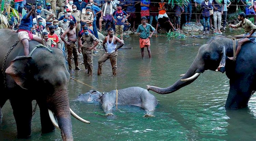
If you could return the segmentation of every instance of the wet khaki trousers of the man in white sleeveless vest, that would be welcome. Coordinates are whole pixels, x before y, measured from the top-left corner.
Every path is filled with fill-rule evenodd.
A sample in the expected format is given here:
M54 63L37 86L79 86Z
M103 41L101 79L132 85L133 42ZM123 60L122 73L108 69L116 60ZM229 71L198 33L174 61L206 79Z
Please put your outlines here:
M106 53L103 54L99 60L98 60L98 75L102 75L102 66L103 64L105 63L106 60L110 59L110 63L111 63L111 66L112 66L112 72L113 72L113 75L116 75L117 73L117 52L114 51L113 53Z

